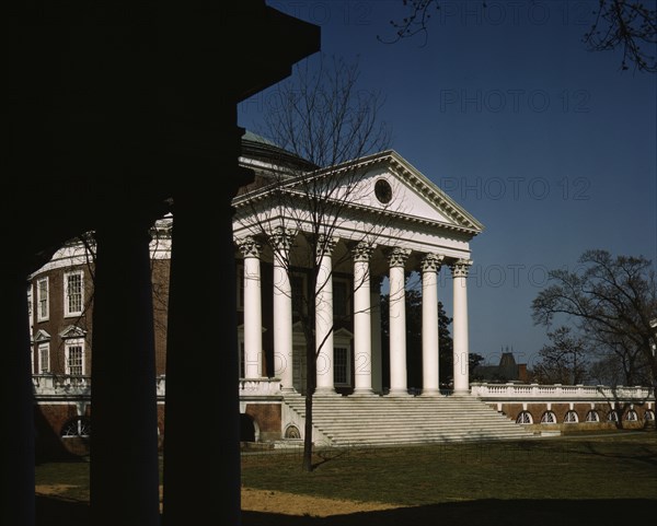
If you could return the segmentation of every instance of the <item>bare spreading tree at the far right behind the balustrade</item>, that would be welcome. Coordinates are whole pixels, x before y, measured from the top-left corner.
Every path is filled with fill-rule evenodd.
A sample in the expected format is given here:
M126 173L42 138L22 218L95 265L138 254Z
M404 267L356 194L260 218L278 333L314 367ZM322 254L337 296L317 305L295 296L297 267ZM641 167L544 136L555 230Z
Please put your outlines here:
M554 284L532 302L534 324L550 326L556 315L572 318L591 344L615 353L629 383L647 365L655 388L657 281L652 261L587 250L578 262L574 271L549 272Z

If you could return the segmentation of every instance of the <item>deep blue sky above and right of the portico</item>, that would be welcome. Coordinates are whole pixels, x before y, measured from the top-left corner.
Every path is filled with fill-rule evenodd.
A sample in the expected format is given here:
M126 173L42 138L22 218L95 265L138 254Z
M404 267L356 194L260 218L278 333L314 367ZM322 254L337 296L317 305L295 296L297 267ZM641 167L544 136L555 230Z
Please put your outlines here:
M654 4L655 2L653 2ZM401 0L267 1L322 28L385 97L391 148L485 231L471 244L470 350L530 364L546 342L531 302L587 248L657 261L657 75L581 43L597 1L442 2L429 34L396 44ZM654 9L654 8L653 8ZM266 92L239 107L257 126ZM451 279L440 273L451 312Z

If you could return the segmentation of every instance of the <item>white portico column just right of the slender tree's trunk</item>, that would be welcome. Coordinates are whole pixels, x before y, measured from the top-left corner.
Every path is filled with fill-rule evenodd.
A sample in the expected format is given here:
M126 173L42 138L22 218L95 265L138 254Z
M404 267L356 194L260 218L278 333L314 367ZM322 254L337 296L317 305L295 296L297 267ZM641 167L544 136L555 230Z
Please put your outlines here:
M315 283L316 395L335 393L333 385L333 266L331 253L336 237L318 243L319 270Z

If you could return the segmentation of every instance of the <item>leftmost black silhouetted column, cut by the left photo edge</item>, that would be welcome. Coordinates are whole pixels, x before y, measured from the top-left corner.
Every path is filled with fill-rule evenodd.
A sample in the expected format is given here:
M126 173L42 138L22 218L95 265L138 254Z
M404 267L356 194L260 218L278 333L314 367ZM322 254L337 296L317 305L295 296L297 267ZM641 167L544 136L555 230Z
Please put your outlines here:
M21 271L7 269L0 277L0 317L3 335L2 419L0 447L0 521L7 525L34 524L34 397L30 364L27 281Z

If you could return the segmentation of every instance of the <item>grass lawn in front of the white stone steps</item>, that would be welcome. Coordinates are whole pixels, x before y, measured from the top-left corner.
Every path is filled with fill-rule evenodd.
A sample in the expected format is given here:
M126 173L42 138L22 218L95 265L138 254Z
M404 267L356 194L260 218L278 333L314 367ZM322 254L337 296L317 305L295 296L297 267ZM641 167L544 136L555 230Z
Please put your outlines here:
M330 449L316 455L311 474L300 467L300 451L243 455L242 484L400 507L324 518L245 512L244 526L600 526L657 513L655 432ZM66 524L84 524L74 521L85 512L76 515L71 506L87 507L88 476L88 463L37 466L37 484L67 487L37 500L38 524L65 524L56 518L61 513L72 521Z

